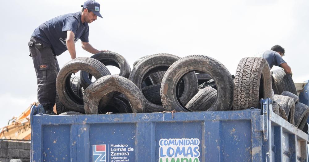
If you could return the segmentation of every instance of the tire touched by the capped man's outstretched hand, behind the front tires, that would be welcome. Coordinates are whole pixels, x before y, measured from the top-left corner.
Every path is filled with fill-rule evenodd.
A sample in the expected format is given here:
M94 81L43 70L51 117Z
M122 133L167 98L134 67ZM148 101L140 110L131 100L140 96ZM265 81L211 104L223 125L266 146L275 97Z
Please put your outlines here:
M99 60L105 66L111 65L120 69L119 76L128 78L131 72L130 65L127 60L123 56L115 52L99 52L95 55L92 55L91 58L95 60ZM109 71L108 71L109 72ZM110 75L110 73L108 74ZM86 89L91 83L92 75L87 73L86 71L81 71L81 85L84 89Z

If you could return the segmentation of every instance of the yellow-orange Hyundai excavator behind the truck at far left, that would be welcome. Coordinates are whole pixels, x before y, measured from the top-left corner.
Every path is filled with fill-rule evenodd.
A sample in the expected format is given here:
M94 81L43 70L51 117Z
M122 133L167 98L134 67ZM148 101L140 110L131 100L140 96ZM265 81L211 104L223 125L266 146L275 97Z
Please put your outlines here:
M9 120L7 126L0 129L0 139L31 140L30 108L38 104L39 102L33 102L19 117ZM56 106L54 112L56 113Z

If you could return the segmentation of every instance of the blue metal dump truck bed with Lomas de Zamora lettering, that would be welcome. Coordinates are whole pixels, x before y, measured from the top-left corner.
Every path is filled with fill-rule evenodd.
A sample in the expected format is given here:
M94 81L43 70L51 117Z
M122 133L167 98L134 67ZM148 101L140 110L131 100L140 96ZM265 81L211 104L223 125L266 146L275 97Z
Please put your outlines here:
M272 112L48 116L32 107L33 162L308 161L308 135Z

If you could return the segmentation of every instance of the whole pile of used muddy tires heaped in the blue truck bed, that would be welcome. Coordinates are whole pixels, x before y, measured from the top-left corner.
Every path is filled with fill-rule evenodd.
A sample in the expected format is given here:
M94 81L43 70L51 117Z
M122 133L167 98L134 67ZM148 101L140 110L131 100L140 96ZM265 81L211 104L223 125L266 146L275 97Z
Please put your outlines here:
M108 65L120 73L111 75ZM71 77L77 70L80 77ZM123 56L100 52L65 64L56 89L57 114L244 110L260 108L261 98L272 98L273 111L299 128L309 114L308 106L298 103L292 77L282 69L271 72L260 57L243 58L234 77L204 55L148 55L131 70Z

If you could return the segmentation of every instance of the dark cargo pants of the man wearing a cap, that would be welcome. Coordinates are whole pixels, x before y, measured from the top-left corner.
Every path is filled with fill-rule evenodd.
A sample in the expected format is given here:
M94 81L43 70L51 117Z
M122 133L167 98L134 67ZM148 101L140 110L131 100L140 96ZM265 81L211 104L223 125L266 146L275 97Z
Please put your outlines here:
M31 37L28 46L36 70L38 100L45 110L53 110L56 98L56 78L60 70L57 57L50 45L38 38Z

